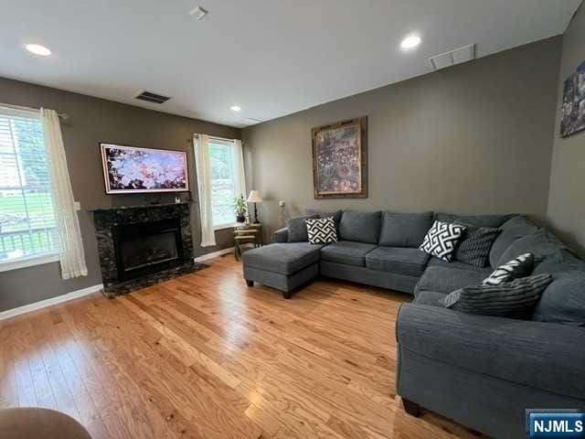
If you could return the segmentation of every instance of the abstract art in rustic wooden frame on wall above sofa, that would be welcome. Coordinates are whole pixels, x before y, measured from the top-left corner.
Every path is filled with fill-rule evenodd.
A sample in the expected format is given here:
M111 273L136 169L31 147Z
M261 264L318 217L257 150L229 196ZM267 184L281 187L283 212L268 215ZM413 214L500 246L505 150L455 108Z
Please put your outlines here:
M312 134L314 198L367 198L367 117Z

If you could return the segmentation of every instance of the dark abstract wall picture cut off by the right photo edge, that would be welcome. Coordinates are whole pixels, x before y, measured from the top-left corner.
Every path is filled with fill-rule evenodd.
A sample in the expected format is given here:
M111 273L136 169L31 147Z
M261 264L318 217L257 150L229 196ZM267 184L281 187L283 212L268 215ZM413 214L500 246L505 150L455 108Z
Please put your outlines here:
M563 91L560 135L567 137L585 130L585 61L567 80Z

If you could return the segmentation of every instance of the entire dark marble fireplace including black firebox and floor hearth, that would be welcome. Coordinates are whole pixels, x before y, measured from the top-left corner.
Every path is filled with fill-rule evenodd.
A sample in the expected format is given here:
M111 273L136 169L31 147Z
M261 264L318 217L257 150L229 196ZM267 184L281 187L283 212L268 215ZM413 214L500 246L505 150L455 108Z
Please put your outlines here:
M94 209L104 294L113 297L192 273L188 203Z

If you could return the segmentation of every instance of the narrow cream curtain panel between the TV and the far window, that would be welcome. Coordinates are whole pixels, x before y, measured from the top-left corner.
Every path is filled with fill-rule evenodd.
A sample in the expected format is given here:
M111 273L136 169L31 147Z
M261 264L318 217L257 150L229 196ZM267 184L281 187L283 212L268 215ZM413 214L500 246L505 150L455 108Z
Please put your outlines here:
M199 195L199 217L201 219L201 247L216 245L211 210L211 168L209 163L209 136L195 134L195 166L197 169L197 192Z

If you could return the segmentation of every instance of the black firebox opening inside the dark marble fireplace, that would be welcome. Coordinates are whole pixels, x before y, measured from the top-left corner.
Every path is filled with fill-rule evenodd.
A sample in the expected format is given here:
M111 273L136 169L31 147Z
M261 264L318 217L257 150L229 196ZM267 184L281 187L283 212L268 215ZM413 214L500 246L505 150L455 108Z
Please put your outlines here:
M163 219L113 228L118 279L127 281L184 262L179 219Z

